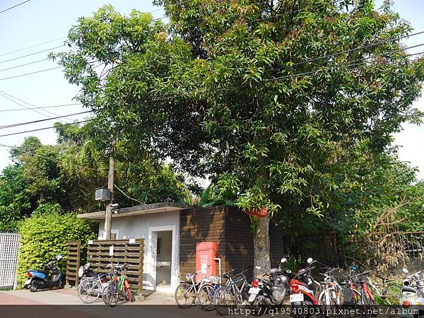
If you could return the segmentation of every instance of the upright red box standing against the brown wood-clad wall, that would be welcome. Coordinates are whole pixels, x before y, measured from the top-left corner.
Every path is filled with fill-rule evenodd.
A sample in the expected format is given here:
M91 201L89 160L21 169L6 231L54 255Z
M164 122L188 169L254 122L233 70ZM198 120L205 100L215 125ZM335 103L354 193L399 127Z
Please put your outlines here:
M196 281L206 273L206 277L216 276L216 242L201 242L196 244L196 271L202 271L196 275Z

